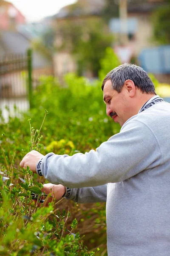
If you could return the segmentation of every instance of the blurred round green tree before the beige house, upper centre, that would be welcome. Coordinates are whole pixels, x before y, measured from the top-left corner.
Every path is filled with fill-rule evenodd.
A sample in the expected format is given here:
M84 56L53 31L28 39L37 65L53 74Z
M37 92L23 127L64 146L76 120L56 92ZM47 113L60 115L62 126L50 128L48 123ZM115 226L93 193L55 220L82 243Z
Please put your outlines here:
M60 25L59 35L62 44L58 50L70 51L77 61L78 73L89 71L97 76L100 68L99 60L104 57L105 49L111 46L113 36L102 20L65 21Z

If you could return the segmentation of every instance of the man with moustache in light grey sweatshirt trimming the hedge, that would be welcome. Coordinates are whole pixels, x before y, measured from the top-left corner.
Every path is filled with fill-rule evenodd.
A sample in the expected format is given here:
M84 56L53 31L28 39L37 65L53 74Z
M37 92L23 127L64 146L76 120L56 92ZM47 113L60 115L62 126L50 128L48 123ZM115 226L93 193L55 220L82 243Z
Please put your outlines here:
M57 199L106 201L108 256L169 256L170 105L133 64L108 73L102 90L119 134L85 154L31 151L20 166L60 184L44 187Z

